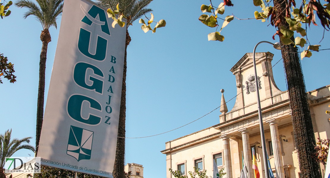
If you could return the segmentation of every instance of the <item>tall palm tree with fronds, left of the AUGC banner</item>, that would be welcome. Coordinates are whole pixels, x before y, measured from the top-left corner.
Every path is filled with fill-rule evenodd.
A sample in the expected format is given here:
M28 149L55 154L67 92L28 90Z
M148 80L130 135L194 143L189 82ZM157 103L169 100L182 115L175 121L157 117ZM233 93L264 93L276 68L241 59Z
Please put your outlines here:
M36 0L37 4L30 0L17 0L16 7L27 8L24 18L33 15L41 23L43 31L41 31L40 40L42 41L40 63L39 63L39 87L37 102L37 127L36 127L36 155L38 153L41 127L44 116L44 95L45 95L45 70L47 59L47 47L51 41L49 28L54 26L57 28L57 17L62 13L63 0Z

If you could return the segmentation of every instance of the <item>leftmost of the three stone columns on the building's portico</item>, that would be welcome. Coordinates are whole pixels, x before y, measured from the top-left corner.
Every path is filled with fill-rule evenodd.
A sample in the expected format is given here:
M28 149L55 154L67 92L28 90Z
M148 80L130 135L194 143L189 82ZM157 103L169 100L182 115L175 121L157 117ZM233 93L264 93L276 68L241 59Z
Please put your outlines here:
M225 177L233 178L232 167L231 167L231 155L230 155L230 139L231 135L222 135L220 138L223 140L223 160L225 167Z

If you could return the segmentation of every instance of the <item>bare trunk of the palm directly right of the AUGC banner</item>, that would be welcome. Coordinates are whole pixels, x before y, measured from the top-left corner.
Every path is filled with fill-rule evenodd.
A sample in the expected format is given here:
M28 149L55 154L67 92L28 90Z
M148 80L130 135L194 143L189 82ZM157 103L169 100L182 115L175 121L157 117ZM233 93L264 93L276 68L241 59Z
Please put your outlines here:
M125 56L124 56L124 70L123 81L121 88L121 101L119 111L119 123L118 123L118 137L116 147L116 159L113 170L114 178L125 178L124 161L125 161L125 120L126 120L126 59L127 59L127 46L131 41L128 30L126 29L126 43L125 43Z

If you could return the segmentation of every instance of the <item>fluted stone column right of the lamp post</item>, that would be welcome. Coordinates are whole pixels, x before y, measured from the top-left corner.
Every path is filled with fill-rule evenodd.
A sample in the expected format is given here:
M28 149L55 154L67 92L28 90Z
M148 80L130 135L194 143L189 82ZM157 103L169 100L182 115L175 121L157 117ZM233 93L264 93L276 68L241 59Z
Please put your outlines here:
M278 129L278 124L280 120L272 119L267 122L269 123L270 134L272 137L274 162L275 162L275 168L277 170L276 177L284 178L283 158L282 158L281 143L280 143L281 140L279 137L279 129Z

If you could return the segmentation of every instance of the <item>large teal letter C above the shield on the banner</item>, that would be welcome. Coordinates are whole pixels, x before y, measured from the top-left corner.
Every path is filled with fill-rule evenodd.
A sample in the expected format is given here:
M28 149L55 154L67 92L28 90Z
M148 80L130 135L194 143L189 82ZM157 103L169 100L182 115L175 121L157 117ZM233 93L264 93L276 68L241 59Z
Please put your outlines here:
M78 122L88 124L88 125L97 125L101 122L101 117L89 114L87 119L82 118L81 110L85 110L86 108L82 108L82 102L87 101L90 104L89 108L102 111L101 105L94 100L93 98L75 94L70 96L68 101L68 114L70 117Z

